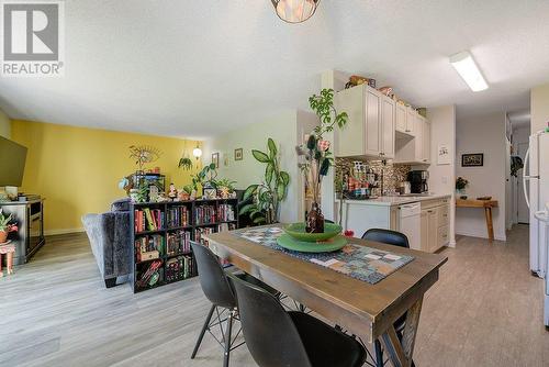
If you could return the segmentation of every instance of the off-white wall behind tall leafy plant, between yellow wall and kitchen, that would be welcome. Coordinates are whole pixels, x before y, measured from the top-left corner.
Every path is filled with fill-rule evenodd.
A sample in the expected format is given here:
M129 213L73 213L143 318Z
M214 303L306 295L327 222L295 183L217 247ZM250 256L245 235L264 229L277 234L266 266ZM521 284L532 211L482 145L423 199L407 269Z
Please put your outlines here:
M204 164L211 162L212 153L220 153L219 178L237 181L238 189L258 184L265 176L265 164L257 162L251 149L267 151L267 138L271 137L279 146L280 168L290 175L288 197L281 204L281 222L296 222L301 219L300 203L302 189L295 145L298 144L298 111L289 110L271 119L239 127L204 142ZM235 160L234 151L243 148L244 159ZM225 166L225 158L228 165Z

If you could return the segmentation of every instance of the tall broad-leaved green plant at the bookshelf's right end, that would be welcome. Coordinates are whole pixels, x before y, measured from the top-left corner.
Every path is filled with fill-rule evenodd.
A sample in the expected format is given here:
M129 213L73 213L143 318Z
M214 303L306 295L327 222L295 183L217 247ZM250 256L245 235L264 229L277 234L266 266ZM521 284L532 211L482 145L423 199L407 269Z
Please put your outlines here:
M267 153L251 151L254 158L267 166L261 184L250 185L244 191L243 200L254 198L254 202L240 209L240 214L248 213L256 224L278 222L280 203L287 198L290 185L290 175L280 169L277 144L270 137L267 140Z

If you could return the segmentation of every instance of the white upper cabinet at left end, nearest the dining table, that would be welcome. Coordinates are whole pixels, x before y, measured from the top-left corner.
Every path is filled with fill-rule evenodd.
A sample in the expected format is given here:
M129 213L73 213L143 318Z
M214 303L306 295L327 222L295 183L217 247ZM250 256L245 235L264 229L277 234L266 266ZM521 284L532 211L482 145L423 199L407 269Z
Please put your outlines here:
M347 112L347 125L336 133L336 156L394 157L395 103L368 86L341 90L336 96L338 112Z

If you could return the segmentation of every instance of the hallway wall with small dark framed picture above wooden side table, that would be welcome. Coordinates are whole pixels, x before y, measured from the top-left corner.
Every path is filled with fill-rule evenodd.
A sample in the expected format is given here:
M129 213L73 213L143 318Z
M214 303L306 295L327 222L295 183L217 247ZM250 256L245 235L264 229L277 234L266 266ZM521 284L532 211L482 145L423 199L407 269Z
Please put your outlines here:
M470 182L469 198L491 196L500 207L493 209L494 236L505 241L505 114L492 113L456 124L456 176ZM461 155L484 153L483 167L461 167ZM456 233L488 237L484 211L478 208L456 209Z

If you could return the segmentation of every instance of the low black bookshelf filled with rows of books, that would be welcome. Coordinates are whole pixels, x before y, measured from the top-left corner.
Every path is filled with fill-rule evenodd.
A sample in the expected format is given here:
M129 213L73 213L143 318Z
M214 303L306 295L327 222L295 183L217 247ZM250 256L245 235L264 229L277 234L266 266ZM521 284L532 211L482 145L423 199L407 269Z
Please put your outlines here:
M132 204L134 293L197 276L190 241L238 227L238 199Z

